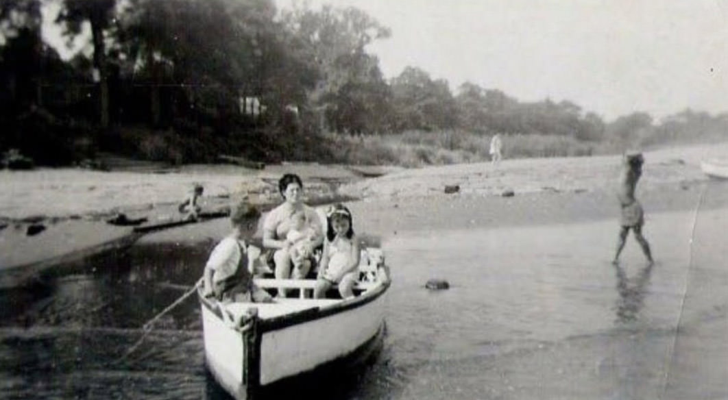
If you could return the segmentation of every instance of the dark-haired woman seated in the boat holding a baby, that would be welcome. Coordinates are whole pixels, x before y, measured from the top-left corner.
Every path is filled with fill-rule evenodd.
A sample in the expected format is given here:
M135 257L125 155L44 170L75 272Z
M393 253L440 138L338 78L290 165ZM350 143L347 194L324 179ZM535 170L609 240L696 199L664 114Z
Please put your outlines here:
M299 226L300 230L311 230L311 239L303 245L302 250L313 255L314 249L323 242L323 228L318 213L312 207L304 204L304 184L301 177L295 174L285 174L278 181L278 190L283 197L283 203L266 215L263 221L263 247L272 254L274 274L276 279L304 279L315 264L312 256L309 263L301 263L300 268L293 268L291 249L293 241L288 240L288 232L293 228L293 216L303 212L305 223ZM279 296L285 297L286 291L279 289Z

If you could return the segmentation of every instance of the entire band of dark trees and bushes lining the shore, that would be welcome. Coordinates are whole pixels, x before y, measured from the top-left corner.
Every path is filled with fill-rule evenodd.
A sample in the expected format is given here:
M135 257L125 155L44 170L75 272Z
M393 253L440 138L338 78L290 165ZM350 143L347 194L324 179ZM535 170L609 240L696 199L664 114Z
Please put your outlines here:
M44 21L53 4L60 14ZM49 23L68 39L90 31L90 55L61 59L41 38ZM416 67L387 80L367 46L390 34L359 9L278 12L272 0L2 0L0 151L39 164L110 151L177 163L224 153L417 165L487 159L496 132L510 156L728 132L728 114L606 122L569 101L523 103L471 83L453 93Z

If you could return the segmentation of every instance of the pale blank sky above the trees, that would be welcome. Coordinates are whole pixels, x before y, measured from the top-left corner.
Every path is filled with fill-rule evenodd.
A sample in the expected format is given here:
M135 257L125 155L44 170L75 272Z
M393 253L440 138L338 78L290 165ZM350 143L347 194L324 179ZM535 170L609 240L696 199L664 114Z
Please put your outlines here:
M276 0L279 8L295 0ZM728 111L728 0L311 0L392 29L368 50L519 101L569 100L604 119Z

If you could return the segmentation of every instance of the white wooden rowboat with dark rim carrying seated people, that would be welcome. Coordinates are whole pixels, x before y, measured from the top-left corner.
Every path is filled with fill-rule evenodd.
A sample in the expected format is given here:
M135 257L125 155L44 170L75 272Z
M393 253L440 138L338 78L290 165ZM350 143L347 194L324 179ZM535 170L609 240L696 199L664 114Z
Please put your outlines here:
M360 366L381 345L389 289L379 248L362 250L355 297L313 299L314 279L254 279L264 289L293 289L275 303L220 303L197 295L205 364L235 399L256 399L289 383ZM322 387L325 387L323 385Z

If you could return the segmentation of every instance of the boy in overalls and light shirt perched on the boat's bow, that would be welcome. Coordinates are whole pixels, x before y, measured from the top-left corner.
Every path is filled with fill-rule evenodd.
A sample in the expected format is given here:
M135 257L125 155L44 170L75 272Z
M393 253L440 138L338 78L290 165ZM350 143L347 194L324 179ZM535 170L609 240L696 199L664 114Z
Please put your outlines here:
M253 272L248 263L248 247L242 239L248 223L255 220L258 210L241 204L230 216L232 232L222 239L205 264L202 295L222 302L271 303L272 297L253 284Z

